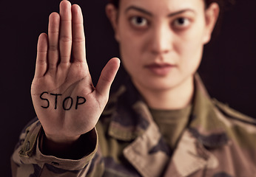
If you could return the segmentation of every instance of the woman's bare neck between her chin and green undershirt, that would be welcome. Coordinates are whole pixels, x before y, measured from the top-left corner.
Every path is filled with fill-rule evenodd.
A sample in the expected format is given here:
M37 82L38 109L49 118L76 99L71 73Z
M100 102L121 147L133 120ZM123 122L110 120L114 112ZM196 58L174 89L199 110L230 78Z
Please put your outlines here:
M171 89L151 90L136 86L150 108L176 110L185 108L192 101L194 78L189 77Z

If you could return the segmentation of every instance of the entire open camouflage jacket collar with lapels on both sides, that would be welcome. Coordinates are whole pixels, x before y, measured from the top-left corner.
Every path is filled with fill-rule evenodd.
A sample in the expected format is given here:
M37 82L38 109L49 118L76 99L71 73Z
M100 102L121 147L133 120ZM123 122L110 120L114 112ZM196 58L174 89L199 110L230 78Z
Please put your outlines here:
M115 111L109 134L122 141L133 140L124 149L124 156L141 175L189 176L203 167L218 165L218 160L207 149L226 145L228 136L198 74L195 74L194 105L189 125L174 152L166 147L149 109L131 83L112 99L115 101L110 100L110 103L115 103Z

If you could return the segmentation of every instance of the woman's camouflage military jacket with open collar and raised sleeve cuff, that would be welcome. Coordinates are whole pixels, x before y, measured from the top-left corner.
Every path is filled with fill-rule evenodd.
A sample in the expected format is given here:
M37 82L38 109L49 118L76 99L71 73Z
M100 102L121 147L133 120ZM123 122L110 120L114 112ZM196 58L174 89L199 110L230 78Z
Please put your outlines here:
M87 156L42 154L42 131L37 120L21 133L11 158L13 176L256 176L256 120L211 100L198 76L189 125L175 150L132 84L110 97L90 132L94 150Z

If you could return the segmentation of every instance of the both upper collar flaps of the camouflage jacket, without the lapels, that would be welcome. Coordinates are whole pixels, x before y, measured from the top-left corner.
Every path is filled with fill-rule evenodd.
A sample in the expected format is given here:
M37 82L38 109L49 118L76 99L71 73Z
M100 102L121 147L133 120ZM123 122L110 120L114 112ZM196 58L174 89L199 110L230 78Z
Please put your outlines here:
M140 136L152 122L146 103L130 80L113 97L115 112L110 122L109 133L116 139L131 141ZM111 102L111 100L110 100ZM219 111L210 100L203 82L195 74L195 95L189 131L206 147L226 145L228 136L219 119ZM134 117L134 119L131 119Z

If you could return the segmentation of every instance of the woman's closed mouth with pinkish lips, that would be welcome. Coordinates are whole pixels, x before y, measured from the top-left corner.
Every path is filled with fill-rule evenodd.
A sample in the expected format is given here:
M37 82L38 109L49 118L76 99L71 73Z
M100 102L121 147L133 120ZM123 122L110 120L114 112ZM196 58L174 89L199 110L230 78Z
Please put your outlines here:
M152 63L145 66L146 69L158 76L166 76L175 67L169 63Z

